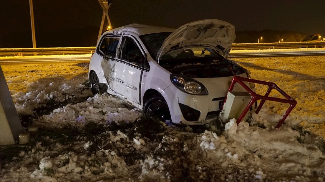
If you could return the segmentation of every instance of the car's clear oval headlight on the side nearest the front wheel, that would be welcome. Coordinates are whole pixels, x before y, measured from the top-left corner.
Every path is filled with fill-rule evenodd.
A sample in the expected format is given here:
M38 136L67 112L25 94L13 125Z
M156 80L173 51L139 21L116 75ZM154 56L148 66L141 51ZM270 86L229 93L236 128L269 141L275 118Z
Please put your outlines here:
M203 84L193 78L181 75L171 74L170 80L180 90L193 95L208 95L208 90Z

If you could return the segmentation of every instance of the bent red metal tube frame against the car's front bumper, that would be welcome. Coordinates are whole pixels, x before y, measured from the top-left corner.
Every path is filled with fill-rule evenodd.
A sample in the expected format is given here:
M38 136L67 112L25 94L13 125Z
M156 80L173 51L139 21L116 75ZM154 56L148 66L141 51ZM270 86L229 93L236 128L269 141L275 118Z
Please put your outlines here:
M266 94L264 96L261 96L259 94L256 94L243 81L253 82L253 83L256 83L256 84L268 85L268 89L266 91ZM282 125L283 121L288 117L289 113L292 111L292 109L297 104L297 101L295 101L287 93L285 93L283 90L281 90L278 87L278 85L276 85L275 83L265 82L265 81L260 81L260 80L254 80L254 79L244 78L244 77L240 77L240 76L234 76L232 78L231 85L230 85L229 90L228 90L229 92L231 92L233 90L235 83L239 83L252 96L251 101L249 102L249 104L247 105L247 107L244 109L244 111L241 113L240 117L237 119L237 125L244 118L244 116L249 111L249 109L253 106L253 104L254 104L254 102L256 102L256 100L261 100L260 105L257 107L257 109L255 111L256 114L258 114L260 112L260 110L261 110L261 108L262 108L262 106L263 106L263 104L265 103L266 100L290 104L290 107L287 109L286 113L284 114L284 116L282 117L282 119L280 119L280 121L278 122L278 124L277 124L277 126L275 128L280 128L280 126ZM272 89L277 90L286 99L269 97L268 95L271 93ZM227 99L227 97L226 97L226 99ZM225 99L225 102L224 103L226 103L226 99Z

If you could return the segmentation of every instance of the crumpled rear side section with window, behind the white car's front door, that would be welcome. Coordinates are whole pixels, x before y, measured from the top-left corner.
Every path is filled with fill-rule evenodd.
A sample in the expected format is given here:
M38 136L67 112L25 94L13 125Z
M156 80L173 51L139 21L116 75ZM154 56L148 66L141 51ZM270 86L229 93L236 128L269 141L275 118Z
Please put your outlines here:
M102 61L100 62L100 67L102 69L97 69L98 72L103 71L103 74L108 83L108 91L112 90L112 82L114 79L115 72L115 59L116 59L116 50L120 43L120 37L114 35L105 35L102 37L100 44L98 46L98 54L102 56ZM100 73L98 73L100 74Z

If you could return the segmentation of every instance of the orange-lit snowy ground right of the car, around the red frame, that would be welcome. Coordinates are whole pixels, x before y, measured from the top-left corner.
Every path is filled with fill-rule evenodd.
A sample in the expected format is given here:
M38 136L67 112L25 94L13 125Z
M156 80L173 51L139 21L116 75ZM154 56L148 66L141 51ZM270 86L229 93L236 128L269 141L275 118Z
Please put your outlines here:
M286 119L289 125L300 124L307 131L325 137L324 60L325 56L234 59L250 70L253 78L276 83L297 101L296 107ZM267 88L256 85L256 89L259 94L264 95ZM280 94L273 91L270 96L279 97ZM264 119L265 125L277 122L287 108L288 105L267 101L266 108L262 110L268 115ZM279 115L271 116L270 111ZM261 114L263 113L259 115Z

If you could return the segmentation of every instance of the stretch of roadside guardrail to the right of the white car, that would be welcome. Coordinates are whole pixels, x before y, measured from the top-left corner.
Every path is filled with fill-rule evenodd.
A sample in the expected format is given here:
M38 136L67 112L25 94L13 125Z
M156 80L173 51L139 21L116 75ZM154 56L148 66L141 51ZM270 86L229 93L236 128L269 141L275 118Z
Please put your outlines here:
M325 42L275 42L275 43L245 43L232 44L231 50L256 49L295 49L325 47Z

